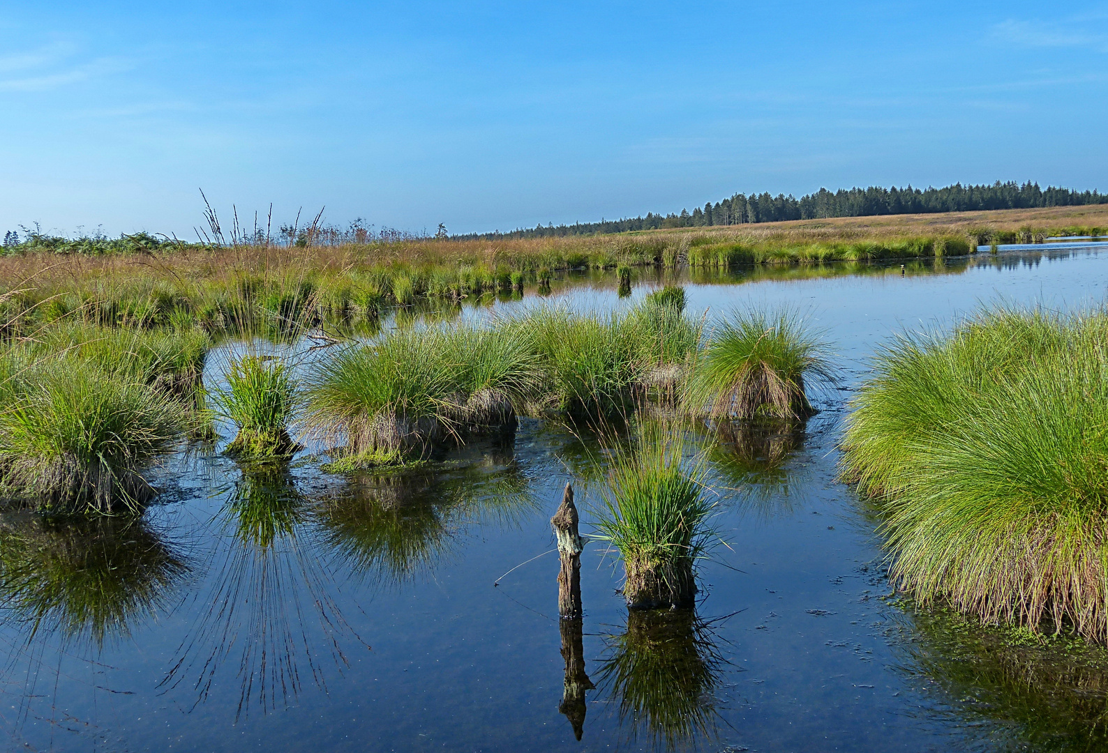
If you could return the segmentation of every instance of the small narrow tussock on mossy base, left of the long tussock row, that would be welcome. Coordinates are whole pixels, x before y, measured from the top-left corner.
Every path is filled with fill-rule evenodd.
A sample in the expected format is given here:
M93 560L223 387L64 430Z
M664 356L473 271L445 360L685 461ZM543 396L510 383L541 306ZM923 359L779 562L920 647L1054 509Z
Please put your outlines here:
M213 405L238 427L228 455L243 460L289 457L297 450L288 425L300 402L291 369L279 358L246 354L230 359L226 388L209 393Z

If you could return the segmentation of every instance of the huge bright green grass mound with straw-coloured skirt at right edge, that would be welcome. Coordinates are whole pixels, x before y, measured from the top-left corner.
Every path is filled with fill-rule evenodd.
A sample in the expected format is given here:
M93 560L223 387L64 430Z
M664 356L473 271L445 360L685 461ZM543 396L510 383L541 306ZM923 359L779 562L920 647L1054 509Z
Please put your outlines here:
M922 602L1108 639L1108 314L995 307L881 353L843 439Z

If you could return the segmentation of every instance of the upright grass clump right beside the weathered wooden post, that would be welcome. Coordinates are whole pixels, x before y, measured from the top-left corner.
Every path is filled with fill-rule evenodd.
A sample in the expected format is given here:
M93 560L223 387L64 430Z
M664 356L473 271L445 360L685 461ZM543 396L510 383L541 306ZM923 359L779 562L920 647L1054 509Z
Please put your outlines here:
M640 421L604 474L597 537L623 558L632 609L693 606L696 560L716 539L704 462L686 457L684 436L674 422Z

